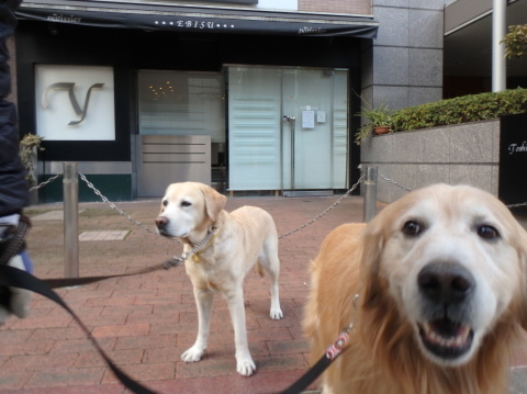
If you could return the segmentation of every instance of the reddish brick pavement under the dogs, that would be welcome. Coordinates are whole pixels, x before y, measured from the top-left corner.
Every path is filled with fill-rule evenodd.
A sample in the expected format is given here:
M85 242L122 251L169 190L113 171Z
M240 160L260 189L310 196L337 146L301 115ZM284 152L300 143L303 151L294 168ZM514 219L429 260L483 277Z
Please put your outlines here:
M267 210L279 234L305 224L329 207L333 198L236 198L226 210ZM154 228L159 200L116 203ZM382 204L379 205L382 207ZM29 250L38 278L64 275L61 204L26 210L33 218ZM181 254L175 241L150 234L104 203L81 203L80 275L133 272ZM58 212L56 212L58 211ZM183 363L180 354L197 334L192 288L182 268L109 279L57 293L91 330L110 358L132 378L159 393L279 393L309 367L301 319L309 292L309 263L324 237L346 222L362 221L362 199L348 196L322 218L280 240L280 297L285 317L269 318L269 281L251 271L245 283L247 329L257 372L236 373L228 311L216 296L204 359ZM527 365L518 351L515 364ZM514 372L511 393L526 393L525 370ZM525 383L525 384L524 384ZM0 328L0 393L125 393L77 323L58 305L33 295L31 315Z

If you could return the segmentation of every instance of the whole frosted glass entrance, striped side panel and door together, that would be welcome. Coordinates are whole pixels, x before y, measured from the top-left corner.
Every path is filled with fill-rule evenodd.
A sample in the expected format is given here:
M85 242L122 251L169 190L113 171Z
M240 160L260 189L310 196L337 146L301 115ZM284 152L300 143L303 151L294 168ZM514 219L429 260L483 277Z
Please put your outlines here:
M229 67L229 190L346 188L347 80L347 70Z

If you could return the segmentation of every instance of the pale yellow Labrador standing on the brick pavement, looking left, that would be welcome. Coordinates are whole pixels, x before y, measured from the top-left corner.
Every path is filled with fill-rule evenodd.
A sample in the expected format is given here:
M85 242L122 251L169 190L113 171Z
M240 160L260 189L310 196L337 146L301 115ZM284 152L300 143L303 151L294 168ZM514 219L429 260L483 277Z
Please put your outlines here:
M183 252L202 245L184 260L198 307L198 337L181 359L200 361L209 338L213 296L221 293L234 326L236 370L250 376L256 365L247 342L243 282L257 263L258 272L267 272L271 280L270 316L272 319L283 317L278 291L278 235L266 211L244 206L228 213L224 211L226 201L223 194L203 183L172 183L162 198L156 225L161 235L179 239ZM211 232L217 233L210 237Z

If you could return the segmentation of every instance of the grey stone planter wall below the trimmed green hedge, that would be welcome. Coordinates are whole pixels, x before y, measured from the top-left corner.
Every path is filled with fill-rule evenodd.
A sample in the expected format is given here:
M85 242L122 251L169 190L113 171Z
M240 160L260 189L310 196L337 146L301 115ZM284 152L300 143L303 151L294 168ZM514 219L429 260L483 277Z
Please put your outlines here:
M497 196L500 120L366 138L361 164L410 188L471 184ZM407 192L379 178L377 199L391 203Z

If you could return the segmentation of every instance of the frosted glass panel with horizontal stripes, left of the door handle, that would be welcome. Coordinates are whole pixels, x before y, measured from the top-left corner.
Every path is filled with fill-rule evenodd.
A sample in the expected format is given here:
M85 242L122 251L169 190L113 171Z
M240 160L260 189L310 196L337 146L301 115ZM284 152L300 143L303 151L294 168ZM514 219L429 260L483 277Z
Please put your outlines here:
M280 190L280 70L228 70L229 190Z

